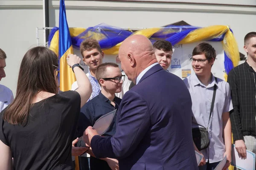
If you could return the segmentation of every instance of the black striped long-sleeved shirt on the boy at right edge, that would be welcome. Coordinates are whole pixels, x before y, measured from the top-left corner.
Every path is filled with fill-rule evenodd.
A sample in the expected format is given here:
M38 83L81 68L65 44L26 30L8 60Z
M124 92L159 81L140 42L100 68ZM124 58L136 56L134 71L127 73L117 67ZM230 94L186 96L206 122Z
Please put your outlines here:
M233 68L227 77L234 111L230 113L234 141L244 136L256 136L256 78L255 71L245 61Z

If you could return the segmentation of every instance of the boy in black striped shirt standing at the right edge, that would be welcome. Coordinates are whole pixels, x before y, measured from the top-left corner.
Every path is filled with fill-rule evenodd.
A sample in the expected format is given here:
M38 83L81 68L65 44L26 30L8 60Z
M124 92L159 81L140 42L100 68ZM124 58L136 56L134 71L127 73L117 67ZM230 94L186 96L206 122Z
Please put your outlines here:
M246 158L246 150L256 153L256 32L244 37L247 60L233 68L227 77L234 107L230 114L237 152Z

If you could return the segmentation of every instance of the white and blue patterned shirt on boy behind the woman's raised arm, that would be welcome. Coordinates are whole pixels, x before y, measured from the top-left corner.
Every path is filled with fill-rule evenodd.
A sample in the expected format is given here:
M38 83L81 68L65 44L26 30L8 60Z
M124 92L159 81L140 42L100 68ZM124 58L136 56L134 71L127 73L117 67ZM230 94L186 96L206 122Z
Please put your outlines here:
M97 81L97 79L95 77L92 76L92 74L90 73L90 69L88 71L88 73L86 74L86 76L88 77L92 88L93 88L93 92L90 96L90 98L88 99L88 101L90 101L90 99L92 99L93 97L97 96L99 94L99 92L101 91L99 82ZM77 82L74 82L71 86L71 90L75 91L78 88ZM88 102L87 101L87 102Z

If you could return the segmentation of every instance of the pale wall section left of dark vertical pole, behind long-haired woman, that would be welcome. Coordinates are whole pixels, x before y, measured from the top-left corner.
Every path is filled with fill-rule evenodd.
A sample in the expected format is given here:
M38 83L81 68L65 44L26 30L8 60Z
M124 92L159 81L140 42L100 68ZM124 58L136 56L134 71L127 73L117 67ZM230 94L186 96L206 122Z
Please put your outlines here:
M20 62L26 51L36 45L35 28L43 24L42 9L3 8L0 1L0 48L6 52L6 78L0 84L16 94ZM43 37L43 33L40 34ZM44 42L44 39L40 40Z

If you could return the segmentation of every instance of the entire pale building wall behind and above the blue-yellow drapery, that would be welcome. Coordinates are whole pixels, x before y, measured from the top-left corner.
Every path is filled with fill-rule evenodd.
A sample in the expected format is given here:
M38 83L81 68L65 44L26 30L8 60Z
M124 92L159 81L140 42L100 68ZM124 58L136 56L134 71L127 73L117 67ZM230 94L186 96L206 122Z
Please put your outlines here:
M255 0L151 0L101 2L65 0L70 27L106 23L118 27L160 27L184 20L192 26L229 25L243 54L245 34L256 31ZM163 3L168 1L168 3ZM207 4L211 3L211 4ZM215 3L215 4L213 4ZM219 4L218 4L219 3ZM224 3L225 5L221 5ZM235 5L234 5L235 4ZM36 45L35 28L44 26L42 0L0 0L0 48L7 54L7 77L0 82L15 93L20 60ZM50 0L50 27L58 26L58 0ZM44 42L40 31L40 42Z

